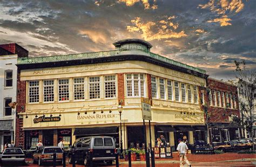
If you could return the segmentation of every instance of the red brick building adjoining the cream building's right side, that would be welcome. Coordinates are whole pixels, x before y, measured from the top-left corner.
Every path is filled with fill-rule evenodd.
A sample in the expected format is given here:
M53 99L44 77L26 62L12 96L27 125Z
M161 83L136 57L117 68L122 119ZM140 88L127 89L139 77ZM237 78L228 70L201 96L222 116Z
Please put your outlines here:
M237 86L207 78L207 87L201 90L201 99L208 113L210 143L218 145L240 137L233 116L240 117Z

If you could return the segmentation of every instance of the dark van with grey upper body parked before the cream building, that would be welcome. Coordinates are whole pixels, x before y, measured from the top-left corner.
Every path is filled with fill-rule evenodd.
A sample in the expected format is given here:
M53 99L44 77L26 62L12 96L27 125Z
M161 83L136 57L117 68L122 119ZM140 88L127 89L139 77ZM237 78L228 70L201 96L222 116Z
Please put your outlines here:
M113 137L93 136L78 138L70 149L69 163L106 162L111 165L115 159L116 145Z

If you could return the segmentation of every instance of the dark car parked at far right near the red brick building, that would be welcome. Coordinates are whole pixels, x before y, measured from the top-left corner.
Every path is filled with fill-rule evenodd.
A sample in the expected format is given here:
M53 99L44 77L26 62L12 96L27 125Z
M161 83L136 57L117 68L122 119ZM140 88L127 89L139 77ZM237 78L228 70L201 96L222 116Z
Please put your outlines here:
M250 140L247 140L246 138L241 138L229 141L223 145L217 145L214 147L214 150L223 150L223 152L226 152L246 150L250 148L252 148L252 142Z

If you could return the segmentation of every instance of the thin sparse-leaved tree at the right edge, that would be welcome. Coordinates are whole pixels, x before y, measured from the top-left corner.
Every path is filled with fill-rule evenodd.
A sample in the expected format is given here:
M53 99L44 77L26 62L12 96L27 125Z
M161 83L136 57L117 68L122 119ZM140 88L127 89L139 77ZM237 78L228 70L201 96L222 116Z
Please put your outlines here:
M250 136L252 136L252 144L254 151L254 93L256 88L256 71L255 69L248 69L245 61L234 61L235 77L237 78L238 87L245 90L245 98L239 99L241 119L234 117L234 122L241 123L242 129L246 129ZM244 131L244 130L243 130ZM243 132L244 133L244 132Z

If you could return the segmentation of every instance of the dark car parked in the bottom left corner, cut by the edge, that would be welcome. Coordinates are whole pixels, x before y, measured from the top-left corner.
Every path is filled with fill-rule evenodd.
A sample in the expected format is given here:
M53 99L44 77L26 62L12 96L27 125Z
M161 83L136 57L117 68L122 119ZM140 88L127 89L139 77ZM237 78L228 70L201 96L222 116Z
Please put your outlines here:
M6 148L2 153L2 164L25 164L25 154L21 148Z

